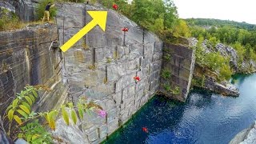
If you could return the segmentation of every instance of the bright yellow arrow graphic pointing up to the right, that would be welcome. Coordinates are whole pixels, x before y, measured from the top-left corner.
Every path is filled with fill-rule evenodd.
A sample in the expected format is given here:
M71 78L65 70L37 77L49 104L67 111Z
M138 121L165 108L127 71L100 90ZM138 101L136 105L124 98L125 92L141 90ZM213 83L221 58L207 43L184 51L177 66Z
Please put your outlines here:
M92 21L90 21L86 26L82 28L77 34L74 34L72 38L70 38L69 41L67 41L63 46L61 46L61 50L65 52L66 50L69 50L71 46L73 46L76 42L78 42L79 39L81 39L84 35L86 35L90 30L94 28L94 26L100 26L103 31L106 30L106 17L107 17L107 11L87 11L91 18L93 18Z

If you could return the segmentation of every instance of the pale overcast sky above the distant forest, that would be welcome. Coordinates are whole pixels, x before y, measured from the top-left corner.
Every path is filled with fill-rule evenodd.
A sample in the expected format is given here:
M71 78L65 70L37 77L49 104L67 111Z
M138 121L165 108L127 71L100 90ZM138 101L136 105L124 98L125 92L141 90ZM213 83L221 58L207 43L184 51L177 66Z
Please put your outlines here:
M256 0L173 0L179 18L216 18L256 24Z

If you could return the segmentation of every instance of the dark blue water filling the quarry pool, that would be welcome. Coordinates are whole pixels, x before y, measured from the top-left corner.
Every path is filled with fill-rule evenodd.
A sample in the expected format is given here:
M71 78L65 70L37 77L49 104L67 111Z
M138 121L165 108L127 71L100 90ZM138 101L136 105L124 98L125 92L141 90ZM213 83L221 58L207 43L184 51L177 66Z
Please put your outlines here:
M155 96L103 143L228 143L256 119L256 74L234 79L238 98L202 90L185 103Z

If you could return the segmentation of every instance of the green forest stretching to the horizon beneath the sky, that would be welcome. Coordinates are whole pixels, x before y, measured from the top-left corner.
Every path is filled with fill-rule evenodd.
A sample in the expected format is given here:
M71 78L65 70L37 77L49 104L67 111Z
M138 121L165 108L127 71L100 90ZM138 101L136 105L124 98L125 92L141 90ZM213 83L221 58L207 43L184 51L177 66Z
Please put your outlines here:
M201 22L201 19L192 23L188 22L192 37L201 41L208 39L212 46L216 46L219 42L232 46L237 50L240 64L250 59L256 61L256 30L238 28L245 26L244 22L234 22L236 26L230 25L232 22L225 24L226 21L223 20L214 21L213 25L210 25L212 19L209 19L207 26L202 25L206 19L201 24L196 25L197 22Z

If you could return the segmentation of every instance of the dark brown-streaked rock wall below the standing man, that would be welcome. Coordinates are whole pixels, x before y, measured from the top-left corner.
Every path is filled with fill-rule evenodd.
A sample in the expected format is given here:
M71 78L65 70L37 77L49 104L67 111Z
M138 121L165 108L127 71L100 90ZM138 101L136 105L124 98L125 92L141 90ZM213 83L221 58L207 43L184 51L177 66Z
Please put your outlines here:
M41 84L52 89L38 99L37 106L41 110L54 107L58 99L66 95L65 86L60 82L58 50L49 50L57 39L56 26L32 26L0 33L1 114L27 84Z

